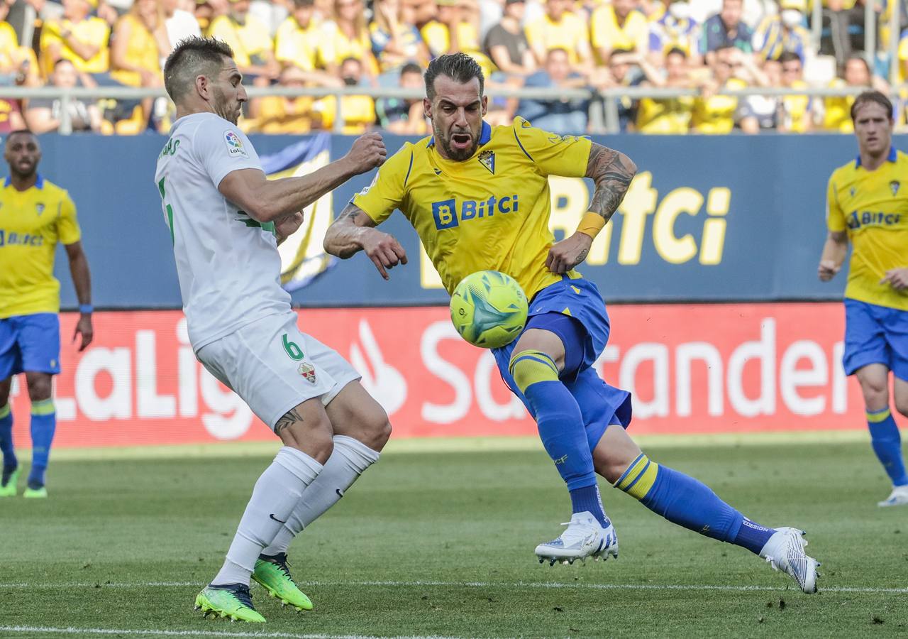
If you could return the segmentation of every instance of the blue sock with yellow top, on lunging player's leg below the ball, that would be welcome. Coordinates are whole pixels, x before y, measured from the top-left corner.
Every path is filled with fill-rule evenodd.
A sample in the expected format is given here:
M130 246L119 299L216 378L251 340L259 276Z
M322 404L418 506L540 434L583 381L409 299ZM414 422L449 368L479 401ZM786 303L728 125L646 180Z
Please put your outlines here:
M599 524L607 525L583 415L577 400L558 380L558 366L548 354L526 350L511 357L508 370L527 398L542 445L568 484L573 512L588 511Z

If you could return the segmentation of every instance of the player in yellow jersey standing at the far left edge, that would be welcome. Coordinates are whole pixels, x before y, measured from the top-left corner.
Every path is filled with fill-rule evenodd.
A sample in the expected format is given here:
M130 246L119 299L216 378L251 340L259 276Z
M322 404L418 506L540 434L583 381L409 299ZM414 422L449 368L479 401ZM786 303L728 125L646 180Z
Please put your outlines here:
M66 248L78 324L79 350L91 344L92 287L82 250L75 205L64 189L38 174L41 147L29 131L6 138L9 175L0 188L0 497L16 494L18 461L13 448L9 391L13 375L25 373L32 401L32 470L25 497L46 497L44 471L56 428L52 378L60 372L60 283L54 278L54 249Z

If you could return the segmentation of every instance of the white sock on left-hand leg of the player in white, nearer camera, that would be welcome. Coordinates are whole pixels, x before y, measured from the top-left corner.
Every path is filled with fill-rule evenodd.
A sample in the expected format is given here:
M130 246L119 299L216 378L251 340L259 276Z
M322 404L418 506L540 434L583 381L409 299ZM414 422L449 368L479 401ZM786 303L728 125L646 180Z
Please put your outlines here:
M322 465L308 454L283 446L252 489L252 497L212 584L249 584L255 560L271 544L300 502L303 489L315 481Z

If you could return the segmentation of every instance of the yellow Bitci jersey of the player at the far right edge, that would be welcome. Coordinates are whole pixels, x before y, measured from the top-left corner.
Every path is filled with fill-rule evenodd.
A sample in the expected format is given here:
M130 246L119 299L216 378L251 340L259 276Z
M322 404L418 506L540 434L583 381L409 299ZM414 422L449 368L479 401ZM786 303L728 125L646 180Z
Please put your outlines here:
M908 266L908 155L893 148L875 171L860 157L835 169L826 225L854 245L845 297L908 311L908 295L880 284L886 271Z

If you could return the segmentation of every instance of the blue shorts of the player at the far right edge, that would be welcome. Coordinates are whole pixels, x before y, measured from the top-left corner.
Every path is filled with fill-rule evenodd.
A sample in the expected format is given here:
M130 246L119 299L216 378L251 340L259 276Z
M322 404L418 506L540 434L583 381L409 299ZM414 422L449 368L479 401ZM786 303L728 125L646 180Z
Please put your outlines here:
M867 364L908 380L908 311L845 298L845 374Z

